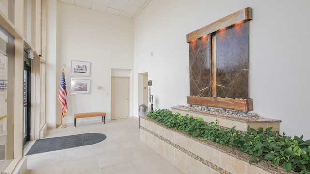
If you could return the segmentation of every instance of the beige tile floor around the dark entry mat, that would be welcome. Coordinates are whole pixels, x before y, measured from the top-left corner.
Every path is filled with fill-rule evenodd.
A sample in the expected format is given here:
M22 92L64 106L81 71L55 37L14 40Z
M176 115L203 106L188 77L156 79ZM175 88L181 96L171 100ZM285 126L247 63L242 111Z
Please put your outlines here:
M136 119L50 129L46 138L81 133L103 133L107 138L94 145L28 155L28 174L184 174L140 141Z

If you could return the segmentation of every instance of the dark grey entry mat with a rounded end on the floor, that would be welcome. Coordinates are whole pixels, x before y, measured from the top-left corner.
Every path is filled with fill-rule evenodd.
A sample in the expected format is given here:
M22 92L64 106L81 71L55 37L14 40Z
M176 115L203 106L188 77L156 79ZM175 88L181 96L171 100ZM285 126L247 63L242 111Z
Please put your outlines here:
M34 142L26 155L62 150L84 145L93 145L105 140L106 138L107 136L102 133L84 133L78 135L39 139Z

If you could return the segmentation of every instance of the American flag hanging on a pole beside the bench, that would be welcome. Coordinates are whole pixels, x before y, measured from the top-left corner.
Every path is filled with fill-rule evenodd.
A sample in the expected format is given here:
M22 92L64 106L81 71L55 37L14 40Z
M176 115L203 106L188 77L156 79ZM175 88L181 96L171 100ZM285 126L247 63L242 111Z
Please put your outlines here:
M62 69L62 81L60 82L58 101L62 105L62 117L67 116L68 104L67 104L67 86L64 78L64 69Z

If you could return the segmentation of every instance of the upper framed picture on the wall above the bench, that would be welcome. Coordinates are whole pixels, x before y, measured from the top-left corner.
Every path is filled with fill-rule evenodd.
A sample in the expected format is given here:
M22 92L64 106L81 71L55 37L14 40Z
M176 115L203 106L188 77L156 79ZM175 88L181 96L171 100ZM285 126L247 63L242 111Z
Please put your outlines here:
M71 60L72 76L90 76L91 62Z

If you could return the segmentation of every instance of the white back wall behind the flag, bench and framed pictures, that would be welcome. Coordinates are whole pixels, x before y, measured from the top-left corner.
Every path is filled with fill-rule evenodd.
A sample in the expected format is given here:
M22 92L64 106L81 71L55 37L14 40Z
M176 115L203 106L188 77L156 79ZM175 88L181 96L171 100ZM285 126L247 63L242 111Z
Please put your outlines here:
M55 126L55 119L56 124L60 123L61 105L57 95L63 64L66 65L68 115L62 123L72 124L74 113L96 111L106 112L106 119L109 120L111 69L133 69L133 20L62 2L57 2L57 8L53 10L57 11L57 58L52 60L56 67L47 64L47 70L54 70L54 74L47 74L47 81L56 81L57 94L47 90L47 101L55 101L56 98L56 107L47 103L47 108L56 113L57 118L47 111L48 126ZM91 62L90 76L71 76L71 60ZM90 94L70 94L71 78L90 79ZM103 89L97 89L97 86ZM77 122L93 120L101 118L82 118Z

